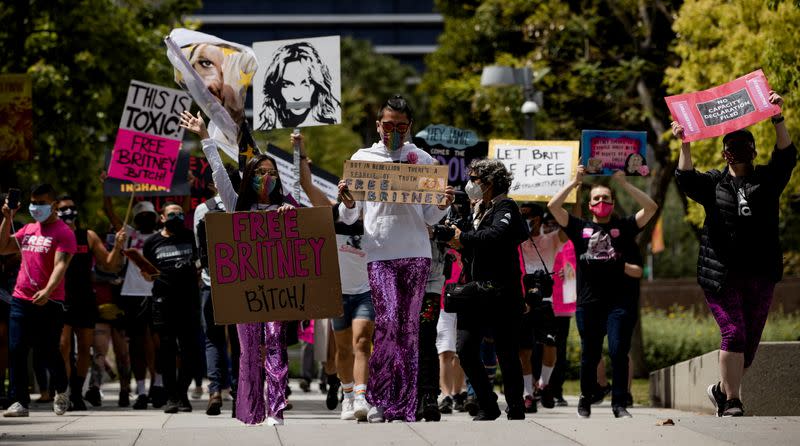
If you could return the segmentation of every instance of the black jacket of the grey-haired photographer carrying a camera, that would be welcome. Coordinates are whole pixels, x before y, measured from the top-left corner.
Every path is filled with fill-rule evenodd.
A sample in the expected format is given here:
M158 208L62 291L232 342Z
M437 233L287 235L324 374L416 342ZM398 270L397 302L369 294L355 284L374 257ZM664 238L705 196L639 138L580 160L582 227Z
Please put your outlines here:
M468 280L491 280L495 286L522 293L522 272L517 248L528 237L519 207L503 198L485 211L478 229L462 232L463 258Z

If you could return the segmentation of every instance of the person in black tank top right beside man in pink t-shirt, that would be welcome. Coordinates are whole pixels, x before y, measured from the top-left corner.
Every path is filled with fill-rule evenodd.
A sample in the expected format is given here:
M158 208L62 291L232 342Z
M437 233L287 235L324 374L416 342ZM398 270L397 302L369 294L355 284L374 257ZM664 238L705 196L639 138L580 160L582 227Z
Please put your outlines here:
M97 322L97 303L92 287L92 270L95 263L107 271L119 271L122 267L122 247L125 246L125 231L116 234L114 248L106 250L100 237L91 229L78 225L78 208L69 195L58 197L58 218L75 233L77 252L70 261L65 276L64 329L61 332L61 356L67 370L70 389L70 410L86 410L83 402L83 383L89 371L89 350L94 343L94 328ZM70 359L73 337L77 341L74 364ZM130 382L130 375L128 382ZM123 378L124 380L124 378ZM128 395L120 393L120 401Z

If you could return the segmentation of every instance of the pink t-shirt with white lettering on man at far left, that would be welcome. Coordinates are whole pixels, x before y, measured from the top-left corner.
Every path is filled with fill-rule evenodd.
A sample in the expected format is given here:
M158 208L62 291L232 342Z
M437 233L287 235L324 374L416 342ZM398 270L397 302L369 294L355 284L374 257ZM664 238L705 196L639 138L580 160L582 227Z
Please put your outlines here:
M22 227L14 237L19 241L22 252L22 266L17 275L14 297L33 300L37 291L44 289L55 268L56 252L75 254L77 242L75 233L61 220L42 225L29 223ZM64 300L64 281L53 290L50 299Z

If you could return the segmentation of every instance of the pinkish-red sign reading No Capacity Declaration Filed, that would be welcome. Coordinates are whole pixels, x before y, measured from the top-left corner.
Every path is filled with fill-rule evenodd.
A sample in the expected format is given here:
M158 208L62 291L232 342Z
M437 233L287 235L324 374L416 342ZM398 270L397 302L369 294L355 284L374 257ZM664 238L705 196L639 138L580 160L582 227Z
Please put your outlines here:
M769 84L756 70L727 84L665 98L672 117L684 129L684 142L713 138L775 116L781 108L769 102Z

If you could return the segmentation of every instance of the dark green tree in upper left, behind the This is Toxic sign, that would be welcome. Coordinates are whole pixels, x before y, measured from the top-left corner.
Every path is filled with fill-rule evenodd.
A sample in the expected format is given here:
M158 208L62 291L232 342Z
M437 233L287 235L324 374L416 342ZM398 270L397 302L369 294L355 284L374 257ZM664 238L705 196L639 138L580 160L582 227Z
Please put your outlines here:
M97 223L98 174L128 83L174 85L162 39L199 7L199 0L0 4L0 72L32 77L35 152L32 162L0 166L0 185L51 182L84 205L84 221Z

